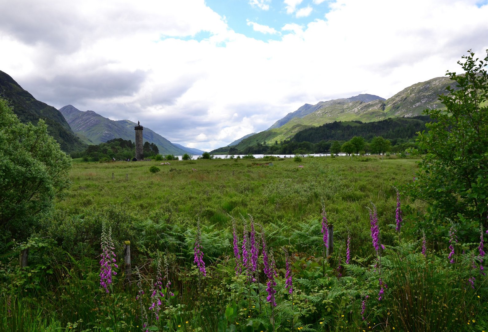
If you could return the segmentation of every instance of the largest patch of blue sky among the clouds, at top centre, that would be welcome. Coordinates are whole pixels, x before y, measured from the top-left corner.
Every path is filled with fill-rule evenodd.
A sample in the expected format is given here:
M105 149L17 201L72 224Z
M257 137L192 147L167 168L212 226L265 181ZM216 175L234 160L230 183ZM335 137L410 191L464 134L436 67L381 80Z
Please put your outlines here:
M317 19L325 20L330 10L329 1L303 0L288 13L283 0L258 1L268 6L267 10L251 5L250 0L206 0L214 12L225 18L230 29L256 40L280 40L288 23L305 26ZM302 15L300 15L302 14ZM307 15L305 15L307 14ZM288 33L288 31L285 31Z

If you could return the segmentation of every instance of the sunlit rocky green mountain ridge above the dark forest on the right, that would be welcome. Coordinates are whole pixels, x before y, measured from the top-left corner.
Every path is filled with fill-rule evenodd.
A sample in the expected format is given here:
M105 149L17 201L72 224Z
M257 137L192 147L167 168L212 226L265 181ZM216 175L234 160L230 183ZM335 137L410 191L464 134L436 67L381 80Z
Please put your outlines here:
M268 129L242 139L233 147L242 151L256 145L272 145L292 139L295 134L307 128L325 125L334 121L372 122L387 118L413 117L422 115L426 108L444 108L438 95L448 93L446 87L453 84L448 77L437 77L425 82L413 84L384 99L375 95L358 96L305 104L296 111L288 113ZM218 148L212 152L225 153L230 146Z

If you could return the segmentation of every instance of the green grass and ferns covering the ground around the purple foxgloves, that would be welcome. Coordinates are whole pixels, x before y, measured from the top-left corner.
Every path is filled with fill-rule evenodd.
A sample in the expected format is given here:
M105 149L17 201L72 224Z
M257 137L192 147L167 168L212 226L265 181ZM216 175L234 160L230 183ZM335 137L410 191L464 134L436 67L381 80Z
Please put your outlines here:
M458 329L458 319L469 329L484 326L487 300L479 294L486 281L480 278L476 290L466 291L470 262L461 250L454 268L440 258L443 253L433 254L432 244L428 260L420 253L411 221L405 220L402 233L395 232L393 186L412 181L416 160L271 159L171 165L75 161L66 198L30 241L29 269L0 269L0 330L406 331L418 320L405 318L413 310L432 320L425 331L478 331ZM151 166L160 171L151 173ZM411 208L424 208L402 200ZM334 254L328 262L321 234L322 202L334 226ZM386 246L380 256L371 243L367 207L372 204ZM244 227L246 236L252 234L251 226L256 229L261 251L257 271L249 272L253 281L246 269L235 273L242 262L236 265L234 259L233 223L239 247ZM103 225L112 230L119 264L108 292L99 276ZM348 236L351 258L345 264ZM194 263L197 239L205 276ZM267 255L276 262L276 307L266 300L263 240ZM133 271L140 271L132 283L124 280L125 241L130 241ZM16 259L10 259L10 266ZM285 289L286 261L292 294ZM167 289L163 286L164 297L151 296L158 271L162 285L172 282ZM382 301L377 300L384 287L379 278L389 285ZM425 299L424 311L411 301L415 296ZM156 298L161 311L151 305ZM453 305L455 301L463 306ZM444 305L450 309L437 310ZM468 319L476 322L468 326Z

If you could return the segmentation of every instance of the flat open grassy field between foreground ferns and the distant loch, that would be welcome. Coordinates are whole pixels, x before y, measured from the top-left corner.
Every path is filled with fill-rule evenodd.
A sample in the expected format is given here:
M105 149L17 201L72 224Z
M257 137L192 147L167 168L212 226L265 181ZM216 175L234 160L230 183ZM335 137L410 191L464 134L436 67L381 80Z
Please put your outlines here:
M161 171L150 173L152 165ZM360 219L366 223L365 207L374 202L380 210L394 209L392 186L411 181L415 170L414 160L381 161L376 156L303 158L298 163L293 158L74 163L73 184L59 206L78 213L89 206L121 204L145 215L171 208L189 222L200 217L203 223L226 228L228 214L249 213L260 223L316 218L324 199L338 225Z

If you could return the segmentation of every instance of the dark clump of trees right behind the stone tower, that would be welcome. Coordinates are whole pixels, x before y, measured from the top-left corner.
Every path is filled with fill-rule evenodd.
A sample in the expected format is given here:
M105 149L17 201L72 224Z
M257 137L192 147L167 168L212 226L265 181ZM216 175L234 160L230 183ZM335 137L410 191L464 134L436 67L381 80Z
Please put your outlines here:
M154 143L145 142L142 146L144 158L156 156L159 154L158 146ZM131 140L114 138L99 145L88 145L86 150L71 154L72 158L83 158L85 161L108 161L127 160L134 158L136 154L136 144Z

